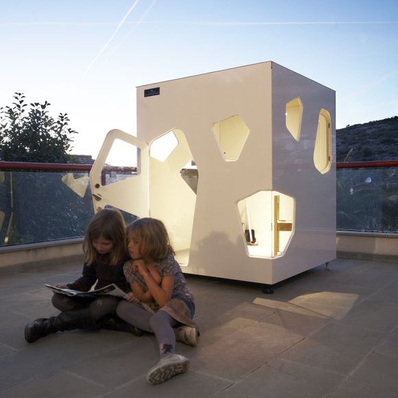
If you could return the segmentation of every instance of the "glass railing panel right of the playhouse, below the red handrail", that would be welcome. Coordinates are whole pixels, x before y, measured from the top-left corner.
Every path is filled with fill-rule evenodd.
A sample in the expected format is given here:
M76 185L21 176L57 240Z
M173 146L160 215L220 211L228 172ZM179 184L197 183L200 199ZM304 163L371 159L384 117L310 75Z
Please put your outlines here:
M398 231L398 169L337 170L337 229Z

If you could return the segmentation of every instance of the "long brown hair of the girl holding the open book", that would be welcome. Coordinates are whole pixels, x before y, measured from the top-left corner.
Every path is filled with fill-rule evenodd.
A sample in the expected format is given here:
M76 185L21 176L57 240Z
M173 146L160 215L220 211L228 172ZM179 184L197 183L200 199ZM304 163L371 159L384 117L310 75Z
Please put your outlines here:
M91 218L83 241L86 263L93 264L97 261L98 253L93 246L93 240L100 238L112 242L110 265L115 266L126 259L126 223L118 209L102 209Z

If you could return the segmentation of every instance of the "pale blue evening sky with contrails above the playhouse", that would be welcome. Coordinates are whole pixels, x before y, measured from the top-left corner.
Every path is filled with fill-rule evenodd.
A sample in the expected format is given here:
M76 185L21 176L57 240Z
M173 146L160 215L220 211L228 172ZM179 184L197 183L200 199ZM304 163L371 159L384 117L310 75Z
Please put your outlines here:
M336 127L398 115L396 0L0 0L0 106L68 113L73 153L135 130L135 88L274 61L336 91Z

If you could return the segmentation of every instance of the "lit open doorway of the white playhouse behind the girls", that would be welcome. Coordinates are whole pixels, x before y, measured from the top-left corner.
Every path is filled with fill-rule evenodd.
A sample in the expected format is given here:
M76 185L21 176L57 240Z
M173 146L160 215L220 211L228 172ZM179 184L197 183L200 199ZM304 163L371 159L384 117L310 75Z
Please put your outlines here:
M194 224L198 171L182 130L174 129L150 143L150 216L165 223L176 259L187 266ZM195 174L187 181L188 167Z

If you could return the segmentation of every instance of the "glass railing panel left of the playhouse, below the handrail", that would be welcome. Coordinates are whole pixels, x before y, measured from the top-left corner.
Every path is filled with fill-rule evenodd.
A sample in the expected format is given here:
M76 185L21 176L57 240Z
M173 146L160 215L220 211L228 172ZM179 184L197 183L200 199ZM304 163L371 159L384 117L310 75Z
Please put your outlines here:
M92 215L87 172L0 172L0 246L82 237Z

